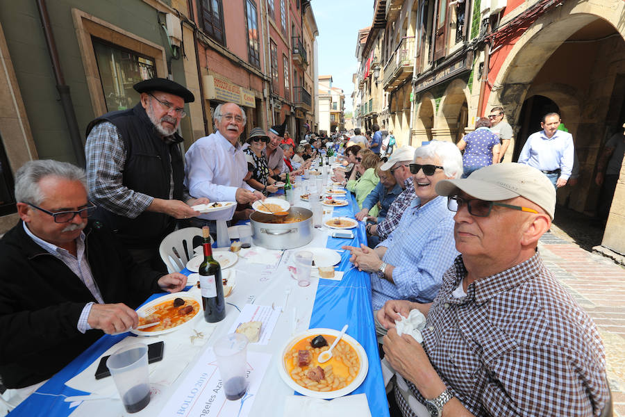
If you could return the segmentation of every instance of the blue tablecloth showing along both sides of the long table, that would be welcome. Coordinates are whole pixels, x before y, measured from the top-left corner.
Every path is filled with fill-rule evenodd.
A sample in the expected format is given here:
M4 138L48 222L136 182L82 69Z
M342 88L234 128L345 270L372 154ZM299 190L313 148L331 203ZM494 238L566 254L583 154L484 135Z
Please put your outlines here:
M353 218L358 212L358 206L353 196L347 197L349 206L335 207L333 216L346 216ZM328 237L326 246L331 249L340 249L342 245L360 245L366 242L365 227L358 224L354 231L353 239L340 239ZM374 319L371 304L371 281L365 272L351 269L349 252L342 253L342 259L338 270L347 272L341 281L320 279L313 306L313 315L310 318L310 328L326 327L340 330L346 323L349 324L349 334L363 345L369 357L369 373L367 378L354 393L365 393L369 400L369 408L372 416L389 416L386 393L383 384L382 370L378 359L378 345L374 329ZM184 272L184 271L183 271ZM160 297L163 294L155 294L146 302ZM63 401L70 395L86 395L84 391L71 389L65 382L72 379L78 373L98 359L109 347L115 345L126 334L117 336L103 336L91 345L85 352L60 370L49 381L42 385L22 404L19 404L10 414L10 417L33 417L33 416L58 416L66 417L74 411L69 409L69 402Z

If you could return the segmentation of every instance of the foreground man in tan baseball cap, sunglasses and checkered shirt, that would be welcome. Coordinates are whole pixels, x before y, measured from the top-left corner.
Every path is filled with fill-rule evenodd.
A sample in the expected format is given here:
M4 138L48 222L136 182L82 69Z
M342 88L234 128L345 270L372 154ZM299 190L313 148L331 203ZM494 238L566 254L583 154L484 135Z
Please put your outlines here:
M537 250L556 206L551 181L504 163L435 189L456 211L460 256L431 304L390 300L377 315L403 416L603 415L601 336ZM422 343L394 329L413 309L426 316Z

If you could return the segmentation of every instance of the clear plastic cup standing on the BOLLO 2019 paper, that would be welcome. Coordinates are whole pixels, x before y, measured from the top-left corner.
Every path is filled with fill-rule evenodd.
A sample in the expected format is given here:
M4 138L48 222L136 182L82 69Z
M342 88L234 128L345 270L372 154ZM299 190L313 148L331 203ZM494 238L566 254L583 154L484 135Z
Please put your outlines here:
M247 392L248 343L244 334L231 333L220 338L213 346L227 400L238 400Z

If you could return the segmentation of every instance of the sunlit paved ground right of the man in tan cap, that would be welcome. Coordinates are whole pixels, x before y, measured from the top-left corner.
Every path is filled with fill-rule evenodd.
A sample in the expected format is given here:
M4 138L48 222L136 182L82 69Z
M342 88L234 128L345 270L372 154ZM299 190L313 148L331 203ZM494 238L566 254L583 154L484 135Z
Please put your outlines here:
M625 417L625 268L581 249L557 226L540 239L542 259L597 323L606 347L614 416Z

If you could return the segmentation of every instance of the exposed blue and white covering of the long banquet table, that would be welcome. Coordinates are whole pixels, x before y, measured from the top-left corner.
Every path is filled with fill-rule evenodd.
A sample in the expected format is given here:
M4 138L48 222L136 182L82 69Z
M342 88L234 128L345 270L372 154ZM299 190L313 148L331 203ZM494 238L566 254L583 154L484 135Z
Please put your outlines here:
M349 193L347 200L349 202L348 206L334 208L333 217L340 215L353 218L353 214L358 211L358 206L356 206L355 199ZM299 193L295 205L309 206L308 202L303 202L299 199ZM362 222L359 222L358 227L352 230L355 237L350 241L349 239L332 238L329 236L328 231L314 229L313 242L305 247L322 246L340 250L342 245L358 246L360 243L366 242L365 228ZM246 303L283 306L284 302L288 300L284 312L278 318L269 343L267 345L249 345L249 351L272 354L249 416L283 416L284 398L294 393L282 381L277 370L277 363L281 361L281 352L279 350L292 334L294 313L297 313L297 318L299 318L297 332L314 327L341 329L344 324L349 324L347 334L356 338L363 345L369 359L367 377L353 393L365 393L367 395L372 416L389 416L374 330L369 276L352 268L349 262L349 252L344 251L340 252L342 259L337 267L337 270L344 271L341 281L319 279L313 281L313 284L309 287L299 287L296 281L289 276L286 270L285 259L288 259L291 254L301 249L285 251L283 259L278 263L275 270L265 266L259 267L259 270L263 270L263 273L260 274L263 275L262 279L244 278L246 277L245 274L237 272L237 283L233 294L226 298L226 302L228 302L226 318L222 322L217 323L217 325L209 325L201 317L198 319L196 328L201 329L207 335L210 334L207 341L201 347L190 350L189 354L193 355L193 359L189 363L183 363L185 368L181 370L181 374L170 386L163 389L163 395L160 395L156 400L153 398L146 409L134 415L158 415L159 407L162 407L167 402L169 396L174 393L176 387L181 383L181 380L199 355L208 346L213 345L217 337L228 333L231 325L238 317L237 309L241 309ZM236 269L244 266L244 261L240 261L240 265L234 265L232 268ZM183 270L183 272L189 273L188 270ZM292 288L288 298L283 291L283 288L287 286ZM153 295L149 300L153 300L161 295L163 294ZM176 334L176 332L172 334ZM72 404L74 407L70 408L70 403L65 402L64 399L70 395L89 394L90 392L72 389L65 383L83 372L90 365L92 366L92 363L97 361L106 350L122 341L128 335L131 334L106 335L100 338L99 341L89 347L88 350L85 350L83 354L74 359L63 370L60 370L22 404L19 404L9 415L11 417L126 415L122 402L119 400L85 401L79 403L78 407L75 407L76 404ZM144 343L151 343L150 338L139 336L138 339L143 339L141 341ZM167 359L168 354L172 354L167 350L167 346L172 345L170 340L165 339L165 359Z

